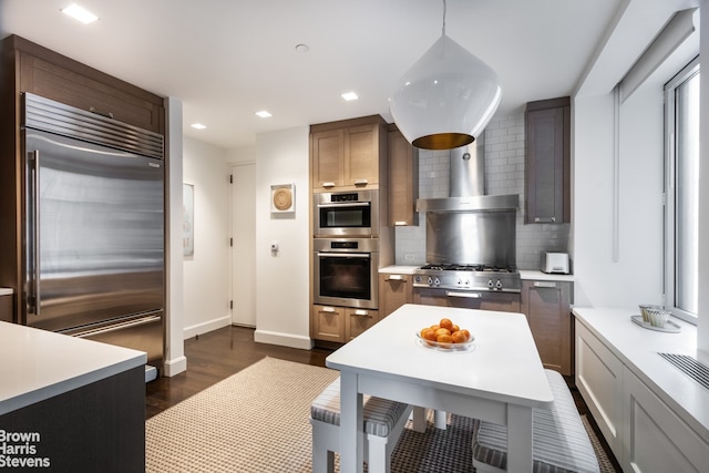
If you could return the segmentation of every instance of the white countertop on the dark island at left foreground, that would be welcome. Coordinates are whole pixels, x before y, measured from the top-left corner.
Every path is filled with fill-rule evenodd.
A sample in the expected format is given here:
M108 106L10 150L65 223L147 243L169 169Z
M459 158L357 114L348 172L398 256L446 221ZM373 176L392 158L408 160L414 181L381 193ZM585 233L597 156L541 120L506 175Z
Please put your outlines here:
M0 415L144 366L143 351L0 322Z

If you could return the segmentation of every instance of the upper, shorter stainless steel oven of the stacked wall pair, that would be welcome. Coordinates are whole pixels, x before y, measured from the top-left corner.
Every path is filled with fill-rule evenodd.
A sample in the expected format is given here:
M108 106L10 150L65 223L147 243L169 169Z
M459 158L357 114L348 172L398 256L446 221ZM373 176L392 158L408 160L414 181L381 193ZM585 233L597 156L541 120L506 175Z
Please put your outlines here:
M315 237L379 236L377 191L314 195Z

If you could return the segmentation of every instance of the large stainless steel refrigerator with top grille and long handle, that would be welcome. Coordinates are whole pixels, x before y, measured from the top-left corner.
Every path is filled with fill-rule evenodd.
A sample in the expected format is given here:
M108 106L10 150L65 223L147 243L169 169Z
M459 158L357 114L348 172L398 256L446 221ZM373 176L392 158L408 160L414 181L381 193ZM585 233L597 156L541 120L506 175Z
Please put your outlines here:
M24 322L164 347L164 140L24 94Z

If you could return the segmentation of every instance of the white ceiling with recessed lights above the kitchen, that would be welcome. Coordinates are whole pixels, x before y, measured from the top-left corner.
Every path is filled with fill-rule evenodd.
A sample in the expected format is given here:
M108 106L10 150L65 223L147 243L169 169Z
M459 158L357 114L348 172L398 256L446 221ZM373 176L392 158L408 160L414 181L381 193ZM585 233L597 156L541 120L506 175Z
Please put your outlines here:
M0 0L0 38L18 34L178 97L185 135L224 148L314 123L391 122L389 94L443 20L442 0L76 0L101 18L85 27L60 12L71 1ZM508 115L573 94L628 2L448 0L445 32L497 72L497 114ZM347 91L360 100L345 102Z

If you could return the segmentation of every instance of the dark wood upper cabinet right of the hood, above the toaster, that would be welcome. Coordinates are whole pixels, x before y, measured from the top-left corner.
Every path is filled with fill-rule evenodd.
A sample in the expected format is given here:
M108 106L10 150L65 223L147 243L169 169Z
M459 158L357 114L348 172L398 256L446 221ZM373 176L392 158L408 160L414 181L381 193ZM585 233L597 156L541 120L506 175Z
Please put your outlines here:
M571 99L527 103L526 224L571 222Z

